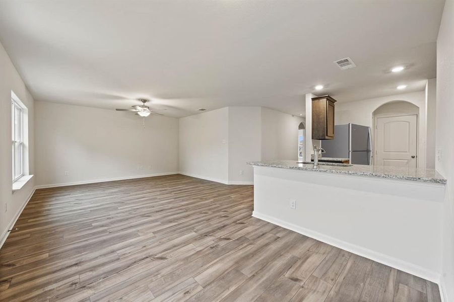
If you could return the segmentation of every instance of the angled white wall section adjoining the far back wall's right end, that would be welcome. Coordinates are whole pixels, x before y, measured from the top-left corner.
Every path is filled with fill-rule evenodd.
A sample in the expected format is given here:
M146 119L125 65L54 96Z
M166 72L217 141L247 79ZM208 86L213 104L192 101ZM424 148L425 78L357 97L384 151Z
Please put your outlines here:
M228 107L179 119L182 174L228 183L228 125Z

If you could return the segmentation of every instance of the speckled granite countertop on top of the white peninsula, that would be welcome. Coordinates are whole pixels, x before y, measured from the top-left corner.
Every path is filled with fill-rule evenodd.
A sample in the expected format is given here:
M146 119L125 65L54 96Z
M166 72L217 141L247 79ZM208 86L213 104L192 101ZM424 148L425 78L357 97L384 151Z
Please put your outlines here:
M361 175L378 178L403 179L430 183L445 184L446 180L434 169L409 169L400 167L351 165L340 167L334 165L318 165L314 168L312 164L297 164L296 161L276 160L263 162L249 162L248 165L273 167L282 169L306 170L337 174Z

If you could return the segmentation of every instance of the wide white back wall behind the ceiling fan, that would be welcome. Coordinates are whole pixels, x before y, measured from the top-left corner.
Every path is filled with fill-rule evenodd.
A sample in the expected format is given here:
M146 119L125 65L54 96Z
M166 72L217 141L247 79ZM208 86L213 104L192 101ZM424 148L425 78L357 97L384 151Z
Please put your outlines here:
M176 118L148 117L144 129L143 119L128 112L35 104L37 185L178 172Z

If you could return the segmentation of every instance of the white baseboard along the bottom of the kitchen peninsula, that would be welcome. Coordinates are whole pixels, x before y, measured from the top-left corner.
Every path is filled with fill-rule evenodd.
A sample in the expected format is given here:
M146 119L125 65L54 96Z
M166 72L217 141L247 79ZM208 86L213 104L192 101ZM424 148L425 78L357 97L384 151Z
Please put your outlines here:
M271 222L273 224L282 226L282 228L308 236L310 238L313 238L318 241L327 243L329 245L338 247L340 249L346 250L346 251L354 253L356 255L371 259L371 260L379 262L381 264L394 267L396 269L399 269L399 270L407 272L409 274L432 281L434 283L437 283L437 284L440 283L440 275L438 273L427 270L418 265L406 262L404 260L390 257L387 255L363 248L358 245L350 244L350 243L344 242L342 240L338 240L336 238L333 238L333 237L330 237L330 236L327 236L327 235L324 235L324 234L321 234L321 233L318 233L318 232L315 232L312 230L308 230L306 228L302 228L301 226L295 225L293 223L289 223L289 222L283 221L281 219L259 213L257 211L253 211L252 216L256 217L258 219L262 219L262 220ZM442 287L442 286L439 286L439 287Z

